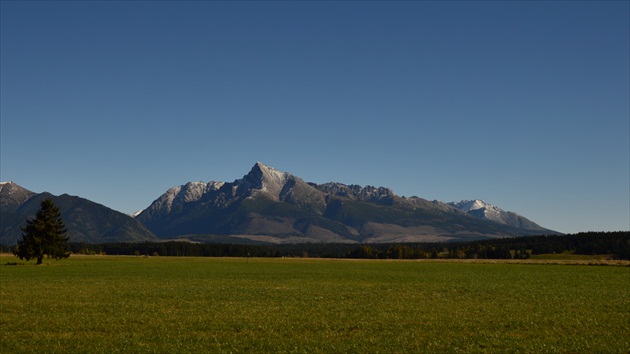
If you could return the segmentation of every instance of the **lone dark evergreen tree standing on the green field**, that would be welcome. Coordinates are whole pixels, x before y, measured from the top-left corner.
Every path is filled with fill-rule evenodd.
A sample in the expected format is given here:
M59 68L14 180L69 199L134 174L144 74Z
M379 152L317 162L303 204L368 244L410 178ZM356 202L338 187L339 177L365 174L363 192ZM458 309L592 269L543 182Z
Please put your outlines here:
M70 255L67 231L61 219L61 209L52 199L43 200L35 219L27 220L22 228L22 240L18 241L14 254L27 261L37 259L37 264L42 264L44 255L55 259L67 258Z

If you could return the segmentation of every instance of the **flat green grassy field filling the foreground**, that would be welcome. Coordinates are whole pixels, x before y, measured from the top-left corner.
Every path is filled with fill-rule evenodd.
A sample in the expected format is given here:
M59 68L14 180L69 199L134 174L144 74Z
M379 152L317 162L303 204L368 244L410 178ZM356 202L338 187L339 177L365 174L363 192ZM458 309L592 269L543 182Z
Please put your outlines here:
M630 268L0 256L0 352L630 351Z

